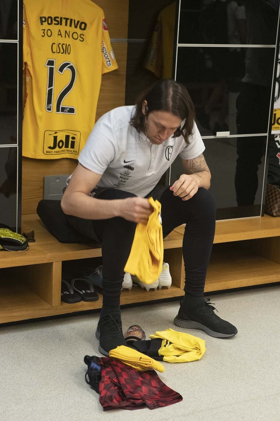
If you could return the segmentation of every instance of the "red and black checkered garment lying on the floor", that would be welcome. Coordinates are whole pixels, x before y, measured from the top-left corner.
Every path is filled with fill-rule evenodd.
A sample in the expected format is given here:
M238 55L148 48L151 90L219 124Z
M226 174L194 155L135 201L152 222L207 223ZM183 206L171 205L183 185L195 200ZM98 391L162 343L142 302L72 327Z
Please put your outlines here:
M99 401L104 410L155 409L183 399L179 393L166 386L154 370L140 372L110 357L102 357L99 361Z

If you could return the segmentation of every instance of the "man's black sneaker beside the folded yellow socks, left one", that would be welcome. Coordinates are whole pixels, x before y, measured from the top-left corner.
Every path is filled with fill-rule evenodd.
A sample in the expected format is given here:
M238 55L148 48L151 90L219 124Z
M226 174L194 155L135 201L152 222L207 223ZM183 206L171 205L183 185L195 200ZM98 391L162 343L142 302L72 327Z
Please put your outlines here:
M95 336L99 341L98 351L109 356L109 351L119 345L127 345L122 333L122 320L120 313L109 313L100 317Z

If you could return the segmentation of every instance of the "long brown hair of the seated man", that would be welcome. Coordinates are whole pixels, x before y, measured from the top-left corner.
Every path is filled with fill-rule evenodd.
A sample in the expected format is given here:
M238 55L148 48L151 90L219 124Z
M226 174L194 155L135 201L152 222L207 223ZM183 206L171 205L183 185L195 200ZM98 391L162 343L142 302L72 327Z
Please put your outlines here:
M143 115L142 104L145 100L148 110ZM135 113L130 120L130 124L136 128L138 133L140 131L145 133L145 116L148 117L151 111L167 111L180 117L183 121L183 124L177 128L173 136L182 135L186 144L189 144L188 136L193 133L195 108L184 85L172 79L160 80L138 96L135 107Z

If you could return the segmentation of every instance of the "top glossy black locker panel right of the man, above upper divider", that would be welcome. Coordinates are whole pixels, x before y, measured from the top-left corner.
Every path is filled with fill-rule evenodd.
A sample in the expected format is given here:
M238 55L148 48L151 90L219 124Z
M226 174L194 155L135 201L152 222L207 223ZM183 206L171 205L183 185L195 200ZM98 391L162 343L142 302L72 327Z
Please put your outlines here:
M278 13L276 1L181 0L179 44L275 45Z

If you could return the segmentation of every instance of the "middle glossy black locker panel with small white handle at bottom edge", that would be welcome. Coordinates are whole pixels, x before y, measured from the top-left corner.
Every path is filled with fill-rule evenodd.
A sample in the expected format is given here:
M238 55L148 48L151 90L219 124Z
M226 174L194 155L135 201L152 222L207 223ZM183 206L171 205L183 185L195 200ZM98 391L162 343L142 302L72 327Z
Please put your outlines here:
M202 136L267 133L275 48L180 47L177 82L195 105Z

